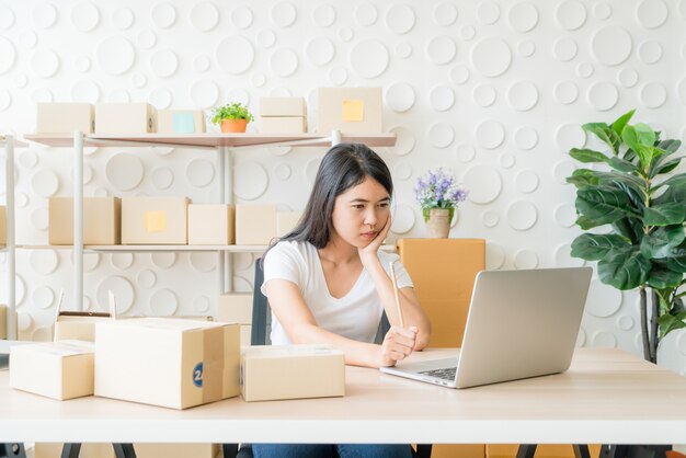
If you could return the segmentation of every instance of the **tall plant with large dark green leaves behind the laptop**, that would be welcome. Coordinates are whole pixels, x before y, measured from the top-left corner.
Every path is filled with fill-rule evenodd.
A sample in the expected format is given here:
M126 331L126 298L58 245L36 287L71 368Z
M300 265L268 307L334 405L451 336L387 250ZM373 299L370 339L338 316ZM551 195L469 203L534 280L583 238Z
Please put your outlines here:
M567 179L576 187L576 225L586 231L572 242L571 255L597 261L604 284L638 289L643 357L656 363L660 340L686 327L686 293L679 290L686 273L686 173L671 173L683 159L681 141L662 140L645 124L630 125L632 116L630 111L610 125L582 126L606 152L570 151L580 162L598 164ZM601 227L611 230L598 233Z

